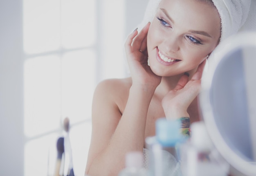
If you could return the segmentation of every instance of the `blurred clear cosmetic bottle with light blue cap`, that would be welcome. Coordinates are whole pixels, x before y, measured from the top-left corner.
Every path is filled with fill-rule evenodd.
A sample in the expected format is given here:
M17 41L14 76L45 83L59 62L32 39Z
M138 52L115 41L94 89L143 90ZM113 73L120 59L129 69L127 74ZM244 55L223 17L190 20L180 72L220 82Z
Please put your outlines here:
M157 119L156 135L146 138L149 150L149 176L181 176L178 146L184 141L180 121Z

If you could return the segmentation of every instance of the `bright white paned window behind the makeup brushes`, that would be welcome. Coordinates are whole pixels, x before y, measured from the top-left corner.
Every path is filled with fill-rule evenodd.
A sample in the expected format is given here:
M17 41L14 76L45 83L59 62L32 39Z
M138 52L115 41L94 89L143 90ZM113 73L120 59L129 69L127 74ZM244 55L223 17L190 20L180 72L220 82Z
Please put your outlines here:
M124 13L124 0L23 0L25 176L53 174L65 117L84 174L94 88L126 75Z

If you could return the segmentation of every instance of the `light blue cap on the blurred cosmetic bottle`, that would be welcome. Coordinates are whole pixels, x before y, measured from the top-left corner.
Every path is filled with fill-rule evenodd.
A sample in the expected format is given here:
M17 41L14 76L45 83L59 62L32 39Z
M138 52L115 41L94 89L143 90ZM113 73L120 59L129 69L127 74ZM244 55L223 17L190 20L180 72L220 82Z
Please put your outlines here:
M156 121L156 137L157 141L165 147L174 146L181 141L182 134L180 132L181 122L166 118L159 118Z

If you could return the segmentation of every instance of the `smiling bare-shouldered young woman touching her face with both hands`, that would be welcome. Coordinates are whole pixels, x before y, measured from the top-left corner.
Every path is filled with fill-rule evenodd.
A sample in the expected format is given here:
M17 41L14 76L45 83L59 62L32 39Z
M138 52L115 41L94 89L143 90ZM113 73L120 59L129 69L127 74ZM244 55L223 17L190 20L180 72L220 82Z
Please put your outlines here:
M159 3L152 22L126 40L131 77L102 81L94 92L85 174L117 176L125 154L142 152L146 137L155 135L160 117L199 120L200 79L221 30L211 0Z

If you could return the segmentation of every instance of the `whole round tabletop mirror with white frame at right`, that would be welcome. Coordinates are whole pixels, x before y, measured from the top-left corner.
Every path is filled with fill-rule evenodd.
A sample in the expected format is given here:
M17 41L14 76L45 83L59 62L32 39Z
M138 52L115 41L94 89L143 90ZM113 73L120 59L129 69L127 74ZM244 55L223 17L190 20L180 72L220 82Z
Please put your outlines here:
M202 118L232 175L256 176L255 76L256 32L220 43L202 76Z

